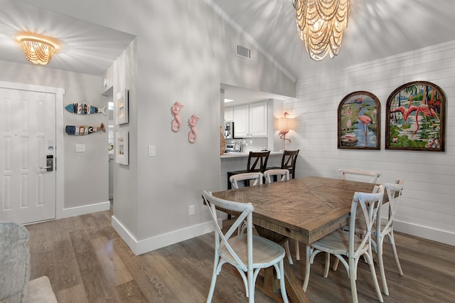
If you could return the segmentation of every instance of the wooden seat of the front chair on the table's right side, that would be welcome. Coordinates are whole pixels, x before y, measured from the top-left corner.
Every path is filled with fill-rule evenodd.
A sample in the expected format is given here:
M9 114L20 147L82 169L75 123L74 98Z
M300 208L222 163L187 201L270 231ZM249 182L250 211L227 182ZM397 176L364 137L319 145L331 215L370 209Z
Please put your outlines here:
M354 238L354 247L362 243L361 238ZM316 250L330 252L333 255L348 255L349 251L349 232L345 230L336 230L333 233L311 243Z

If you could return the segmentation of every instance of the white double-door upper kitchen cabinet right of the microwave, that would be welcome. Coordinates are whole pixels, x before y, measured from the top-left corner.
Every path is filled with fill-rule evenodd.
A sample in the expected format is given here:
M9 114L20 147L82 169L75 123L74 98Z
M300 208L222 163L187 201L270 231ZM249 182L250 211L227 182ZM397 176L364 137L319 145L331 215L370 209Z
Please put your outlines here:
M267 101L233 107L235 137L267 137Z

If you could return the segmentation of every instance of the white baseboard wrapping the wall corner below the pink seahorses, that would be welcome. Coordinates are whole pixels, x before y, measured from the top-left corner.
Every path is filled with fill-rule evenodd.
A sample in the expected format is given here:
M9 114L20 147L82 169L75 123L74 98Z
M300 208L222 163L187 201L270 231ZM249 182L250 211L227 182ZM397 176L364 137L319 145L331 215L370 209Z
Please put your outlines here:
M223 222L220 224L223 225ZM179 243L181 241L198 237L200 235L205 235L205 233L210 233L214 230L213 222L210 220L208 222L193 225L188 228L173 230L170 233L164 233L162 235L156 235L155 237L138 241L136 238L134 238L134 235L129 233L129 230L127 230L127 228L125 228L124 225L122 225L122 223L120 223L119 220L115 218L115 216L112 216L112 227L117 231L125 243L127 243L135 255L141 255L145 252L164 248L168 245Z

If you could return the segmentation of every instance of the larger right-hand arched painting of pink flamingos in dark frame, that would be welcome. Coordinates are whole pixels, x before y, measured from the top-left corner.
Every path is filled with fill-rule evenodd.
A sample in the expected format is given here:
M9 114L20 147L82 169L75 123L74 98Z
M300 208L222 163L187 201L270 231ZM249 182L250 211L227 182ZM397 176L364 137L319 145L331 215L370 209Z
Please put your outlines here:
M446 97L427 81L406 83L387 98L385 148L444 151Z

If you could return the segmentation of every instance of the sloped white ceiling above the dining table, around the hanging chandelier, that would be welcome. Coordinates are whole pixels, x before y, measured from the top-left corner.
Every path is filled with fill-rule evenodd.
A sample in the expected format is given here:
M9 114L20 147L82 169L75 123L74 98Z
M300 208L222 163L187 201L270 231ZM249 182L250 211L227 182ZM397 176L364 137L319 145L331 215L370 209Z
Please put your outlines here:
M296 80L455 40L455 1L351 0L340 54L316 62L297 35L292 0L207 1Z

